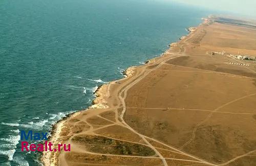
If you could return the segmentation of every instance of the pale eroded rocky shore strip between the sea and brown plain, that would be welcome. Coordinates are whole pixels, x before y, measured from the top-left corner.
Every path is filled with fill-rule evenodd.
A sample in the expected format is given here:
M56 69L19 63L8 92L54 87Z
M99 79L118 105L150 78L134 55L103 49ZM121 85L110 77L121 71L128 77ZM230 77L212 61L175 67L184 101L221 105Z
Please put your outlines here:
M107 109L110 108L110 103L108 103L105 98L108 98L110 95L110 86L112 84L118 83L118 84L122 84L120 83L120 81L124 81L124 80L129 80L130 78L132 78L134 76L134 73L136 72L136 69L139 67L145 67L145 66L150 66L152 64L155 64L156 59L158 61L160 61L161 59L163 59L166 55L168 54L168 51L171 51L173 49L175 49L178 44L180 43L180 41L182 40L186 40L189 35L191 33L194 33L198 27L200 27L202 24L207 23L208 19L205 18L203 19L204 21L202 23L200 23L197 27L190 27L187 28L188 30L188 34L182 36L181 38L179 38L178 41L170 43L168 46L169 48L165 50L164 53L162 53L160 56L146 60L145 64L139 65L139 66L131 66L129 68L127 68L126 70L124 70L123 72L123 78L118 79L118 80L113 80L109 83L105 83L102 84L101 86L99 86L97 88L97 90L95 91L95 99L92 101L92 105L89 106L87 109L85 110L79 110L77 112L73 112L71 114L66 115L65 117L61 118L61 120L57 121L54 125L52 125L51 127L51 136L49 136L48 140L51 141L53 143L53 145L57 145L60 143L63 143L63 140L61 139L61 131L63 128L65 128L65 124L68 122L68 120L70 120L71 118L74 118L76 116L78 116L81 112L83 111L89 111L91 109ZM135 78L136 79L136 78ZM129 83L128 83L129 84ZM40 158L41 162L43 165L58 165L58 157L59 157L59 153L60 152L43 152L42 156Z

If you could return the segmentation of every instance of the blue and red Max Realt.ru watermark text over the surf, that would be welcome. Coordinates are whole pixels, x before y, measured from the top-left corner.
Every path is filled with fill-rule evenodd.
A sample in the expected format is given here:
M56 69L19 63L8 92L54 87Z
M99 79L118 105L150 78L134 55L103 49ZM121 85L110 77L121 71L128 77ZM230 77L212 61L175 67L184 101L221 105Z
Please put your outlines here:
M56 147L54 146L50 141L47 141L47 132L41 132L41 133L33 133L32 130L29 130L27 133L24 130L20 131L20 140L21 140L21 150L22 152L26 151L26 152L44 152L44 151L58 151L60 152L63 148L64 151L66 152L70 152L70 144L58 144L57 148L53 148ZM26 140L26 141L25 141ZM36 141L45 141L44 144L30 144L28 143L28 140L36 140Z

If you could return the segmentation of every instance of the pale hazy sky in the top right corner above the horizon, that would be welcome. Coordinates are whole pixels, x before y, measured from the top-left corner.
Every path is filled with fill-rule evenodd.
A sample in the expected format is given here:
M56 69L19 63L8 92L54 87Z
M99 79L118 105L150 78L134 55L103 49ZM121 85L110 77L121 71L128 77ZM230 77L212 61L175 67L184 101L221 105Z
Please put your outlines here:
M256 18L256 0L170 0Z

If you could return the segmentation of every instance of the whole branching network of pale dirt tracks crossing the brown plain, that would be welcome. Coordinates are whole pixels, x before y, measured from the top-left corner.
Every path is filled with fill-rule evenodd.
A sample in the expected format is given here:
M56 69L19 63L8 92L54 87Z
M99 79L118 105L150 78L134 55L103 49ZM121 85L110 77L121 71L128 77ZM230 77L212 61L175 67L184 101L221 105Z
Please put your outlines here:
M190 37L191 36L188 36L187 39L190 38ZM193 35L192 35L192 37L193 37ZM198 127L200 127L203 123L208 121L211 118L212 114L214 114L214 113L254 115L255 113L250 113L250 112L248 112L248 113L236 113L236 112L231 112L231 111L230 112L228 112L228 111L225 112L225 111L219 111L219 110L222 109L223 107L231 104L231 103L238 102L239 100L242 100L244 98L254 96L254 95L256 95L256 93L249 94L247 96L241 97L241 98L236 99L236 100L232 100L232 101L230 101L228 103L225 103L222 106L220 106L220 107L218 107L218 108L216 108L214 110L189 109L189 108L181 109L181 108L139 108L139 107L126 107L125 99L127 97L127 91L129 91L129 89L131 89L134 85L139 83L143 78L148 76L148 74L150 74L154 70L163 70L163 69L160 68L161 66L163 66L163 65L173 65L173 64L168 64L167 61L169 61L171 59L174 59L174 58L182 57L182 56L190 56L190 54L186 54L186 51L187 51L186 46L188 46L188 44L186 43L187 39L182 41L182 43L180 44L180 51L178 53L173 53L173 52L168 52L167 51L167 52L165 52L163 54L163 56L161 58L156 58L156 59L154 59L154 61L151 61L147 65L144 65L142 67L138 67L135 70L135 73L132 74L132 77L129 77L128 79L118 80L118 82L119 81L122 82L120 84L120 86L119 85L117 85L117 86L115 85L116 83L118 83L116 81L111 82L107 86L108 89L106 90L105 93L106 93L106 96L112 95L112 99L111 100L115 100L115 104L113 102L108 102L109 108L96 110L96 112L98 111L98 113L92 113L92 111L91 111L90 112L90 116L87 117L85 120L83 120L83 122L85 122L85 123L87 123L89 125L90 129L87 130L87 131L83 131L83 132L80 132L80 133L75 133L75 134L72 135L72 137L80 135L80 134L96 135L96 136L98 135L98 136L108 137L108 136L105 136L105 135L96 134L95 131L100 130L100 129L104 129L104 128L108 128L108 127L112 127L112 126L120 126L120 127L124 127L126 129L129 129L131 132L133 132L134 134L138 135L144 141L144 143L142 144L142 141L141 141L141 143L138 143L136 141L121 140L121 139L117 139L117 138L112 138L112 139L116 139L116 140L120 140L120 141L127 141L129 143L134 143L134 144L139 144L139 145L147 146L147 147L151 148L156 153L156 155L144 157L144 156L129 156L129 155L115 155L115 154L93 153L93 152L87 151L86 149L81 149L79 146L77 146L75 144L74 144L74 146L72 148L75 149L76 152L87 153L87 154L92 154L92 155L118 156L118 157L127 157L127 158L128 157L130 157L130 158L136 158L137 157L137 158L161 159L162 160L162 164L165 165L165 166L168 165L166 160L177 160L177 161L188 161L188 162L190 162L190 164L187 164L187 165L197 165L197 163L198 163L198 164L205 164L205 165L224 166L224 165L228 165L228 164L232 163L233 161L236 161L237 159L240 159L240 158L245 157L245 156L249 156L252 153L256 152L256 150L253 150L253 151L250 151L250 152L248 152L246 154L234 157L233 159L230 159L229 161L227 161L225 163L217 164L217 163L208 162L207 160L204 160L202 158L199 158L197 156L194 156L194 155L189 154L189 153L187 153L187 152L182 150L182 148L184 148L185 146L190 144L191 141L194 140L194 138L196 137L196 134L197 134ZM197 56L197 55L201 55L201 54L196 54L195 56ZM202 54L202 55L204 55L204 54ZM148 66L151 66L152 68L148 68ZM175 66L179 66L179 65L175 65ZM190 69L195 70L194 67L187 67L187 66L181 66L181 67L190 68ZM251 77L246 77L246 76L238 76L238 75L234 75L234 74L215 72L215 71L207 70L207 69L200 69L200 70L195 70L195 71L192 71L192 70L166 70L166 71L168 71L168 72L183 72L183 73L185 73L185 72L186 73L214 73L214 74L230 75L232 77L251 78ZM112 88L112 86L115 86L116 88ZM135 129L133 129L131 126L129 126L125 122L125 120L124 120L124 115L125 115L125 112L126 112L127 108L194 110L194 111L207 111L207 112L209 112L209 114L208 114L208 116L203 121L201 121L200 123L198 123L196 125L196 127L194 128L193 133L191 135L191 138L185 144L183 144L183 146L181 146L180 148L176 148L176 147L167 145L167 144L163 143L162 141L157 140L157 139L155 139L153 137L148 137L146 135L143 135L143 134L139 133L138 131L136 131ZM105 117L100 115L100 113L106 112L106 111L113 111L113 112L115 112L115 122L114 122L113 119L109 120L108 118L105 118ZM111 124L108 124L108 125L94 125L94 124L89 123L90 121L89 122L87 121L88 118L90 118L90 117L98 117L98 118L101 118L102 120L110 122ZM72 140L71 140L72 137L67 141L68 144L72 143ZM111 138L111 137L108 137L108 138ZM153 146L152 143L151 143L152 141L162 145L162 147L159 148L159 147ZM166 147L166 149L164 147ZM170 153L177 153L177 154L183 155L184 157L189 157L191 159L182 159L183 157L180 157L180 158L167 158L167 157L164 157L159 152L159 150L169 151ZM67 165L67 160L65 158L65 153L66 152L62 151L60 156L59 156L59 160L61 160L61 162L59 162L59 163L61 163L61 165ZM83 163L83 164L86 164L86 163ZM94 163L88 163L88 164L89 165L110 165L110 164L94 164ZM119 164L117 164L117 165L119 165Z

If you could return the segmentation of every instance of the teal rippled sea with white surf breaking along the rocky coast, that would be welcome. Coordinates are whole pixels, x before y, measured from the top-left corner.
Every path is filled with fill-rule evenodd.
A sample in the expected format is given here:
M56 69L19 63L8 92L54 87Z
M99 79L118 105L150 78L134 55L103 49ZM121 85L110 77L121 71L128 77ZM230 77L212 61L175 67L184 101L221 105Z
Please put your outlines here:
M0 0L0 165L40 165L41 153L20 150L21 130L49 132L211 13L161 0Z

